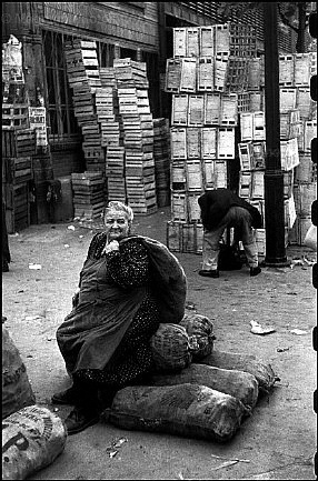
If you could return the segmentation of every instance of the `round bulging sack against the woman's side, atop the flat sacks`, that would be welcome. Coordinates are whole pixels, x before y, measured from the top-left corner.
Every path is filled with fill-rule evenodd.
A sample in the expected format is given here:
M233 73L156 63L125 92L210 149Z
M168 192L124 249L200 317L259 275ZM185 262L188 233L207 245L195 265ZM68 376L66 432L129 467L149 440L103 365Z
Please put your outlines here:
M156 371L178 371L191 362L189 335L181 325L160 324L150 345Z

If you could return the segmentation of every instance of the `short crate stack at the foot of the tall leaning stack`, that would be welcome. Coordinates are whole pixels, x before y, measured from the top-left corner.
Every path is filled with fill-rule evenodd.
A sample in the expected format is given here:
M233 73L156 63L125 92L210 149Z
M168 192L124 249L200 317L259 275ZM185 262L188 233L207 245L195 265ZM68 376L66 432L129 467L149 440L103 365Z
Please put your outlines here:
M100 218L105 208L105 178L102 172L72 173L74 218L93 220Z

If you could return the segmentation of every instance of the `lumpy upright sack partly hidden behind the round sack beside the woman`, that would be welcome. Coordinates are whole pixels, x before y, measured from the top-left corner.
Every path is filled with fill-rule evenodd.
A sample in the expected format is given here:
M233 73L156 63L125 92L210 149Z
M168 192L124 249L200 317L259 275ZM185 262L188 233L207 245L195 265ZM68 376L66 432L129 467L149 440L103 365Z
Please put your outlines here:
M196 312L186 312L179 325L186 328L190 338L192 360L195 362L212 352L216 337L213 334L213 323L209 318Z

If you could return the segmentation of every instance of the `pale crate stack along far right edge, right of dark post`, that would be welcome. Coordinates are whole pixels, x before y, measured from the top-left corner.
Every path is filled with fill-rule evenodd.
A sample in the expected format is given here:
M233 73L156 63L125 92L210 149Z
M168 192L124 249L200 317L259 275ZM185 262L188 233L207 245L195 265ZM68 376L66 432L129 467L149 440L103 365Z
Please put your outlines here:
M291 79L291 83L281 90L290 106L296 106L300 117L299 164L295 168L292 189L297 218L289 233L289 241L302 245L311 224L311 203L317 197L317 166L310 156L311 139L317 137L317 102L310 98L310 77L317 73L317 52L296 53L280 61L289 66Z

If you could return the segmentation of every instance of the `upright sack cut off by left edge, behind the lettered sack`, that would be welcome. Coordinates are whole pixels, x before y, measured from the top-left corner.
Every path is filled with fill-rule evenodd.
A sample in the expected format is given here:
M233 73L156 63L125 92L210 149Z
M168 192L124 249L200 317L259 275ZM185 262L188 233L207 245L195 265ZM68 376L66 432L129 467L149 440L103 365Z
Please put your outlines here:
M34 402L26 365L9 331L2 325L2 419Z

